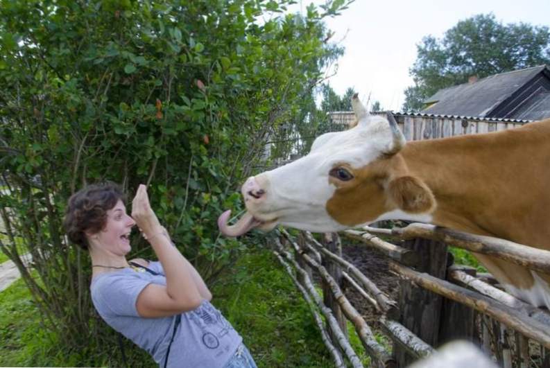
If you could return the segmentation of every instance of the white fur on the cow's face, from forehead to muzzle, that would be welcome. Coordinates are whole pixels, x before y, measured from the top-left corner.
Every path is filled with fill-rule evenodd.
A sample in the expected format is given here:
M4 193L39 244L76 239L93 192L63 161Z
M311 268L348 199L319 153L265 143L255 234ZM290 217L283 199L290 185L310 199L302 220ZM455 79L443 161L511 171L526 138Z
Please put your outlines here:
M248 200L246 207L259 220L309 231L345 229L327 212L336 186L329 180L332 168L346 164L362 168L378 159L393 144L386 119L368 116L361 125L318 137L309 155L256 176L266 193Z

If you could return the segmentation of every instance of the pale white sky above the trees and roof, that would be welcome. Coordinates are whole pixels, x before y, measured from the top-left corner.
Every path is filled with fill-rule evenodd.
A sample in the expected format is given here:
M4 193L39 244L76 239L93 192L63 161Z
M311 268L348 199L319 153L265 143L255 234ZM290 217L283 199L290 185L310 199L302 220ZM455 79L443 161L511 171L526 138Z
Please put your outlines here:
M311 2L299 5L305 12ZM353 87L363 103L370 95L370 103L379 100L384 109L400 111L422 37L441 38L458 21L490 12L504 24L550 27L550 0L356 0L326 21L335 32L332 40L345 47L329 85L339 95Z

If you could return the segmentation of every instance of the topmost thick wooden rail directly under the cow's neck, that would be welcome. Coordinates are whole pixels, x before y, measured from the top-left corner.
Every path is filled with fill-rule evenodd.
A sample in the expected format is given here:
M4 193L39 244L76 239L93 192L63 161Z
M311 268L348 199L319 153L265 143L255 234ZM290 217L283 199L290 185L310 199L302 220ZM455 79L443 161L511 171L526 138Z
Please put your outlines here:
M392 229L391 233L392 236L399 236L403 239L438 240L471 252L498 256L500 259L517 265L550 274L550 252L547 250L528 247L490 236L472 235L463 231L420 223L411 224L402 229Z

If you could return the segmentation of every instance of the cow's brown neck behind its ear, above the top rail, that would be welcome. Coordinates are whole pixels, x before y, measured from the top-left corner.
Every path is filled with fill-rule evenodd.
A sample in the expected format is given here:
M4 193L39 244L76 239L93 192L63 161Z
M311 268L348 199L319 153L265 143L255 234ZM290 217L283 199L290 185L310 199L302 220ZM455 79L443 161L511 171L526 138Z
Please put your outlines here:
M550 248L548 234L528 231L550 225L543 220L550 209L550 120L495 134L409 142L400 155L433 192L436 225Z

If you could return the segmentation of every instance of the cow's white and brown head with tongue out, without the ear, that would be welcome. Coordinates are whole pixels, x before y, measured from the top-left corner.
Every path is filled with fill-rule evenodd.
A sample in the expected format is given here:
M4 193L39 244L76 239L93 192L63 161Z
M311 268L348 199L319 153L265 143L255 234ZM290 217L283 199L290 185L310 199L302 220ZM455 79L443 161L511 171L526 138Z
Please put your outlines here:
M248 178L241 187L247 213L233 226L227 226L230 212L223 213L218 219L223 234L238 236L254 227L268 231L276 225L339 231L399 208L399 199L388 200L392 195L387 192L395 192L392 179L398 179L399 188L411 179L413 186L424 189L412 177L399 182L399 173L406 168L395 153L404 145L404 137L395 121L392 127L387 119L369 116L360 108L356 116L355 128L323 134L309 155Z

